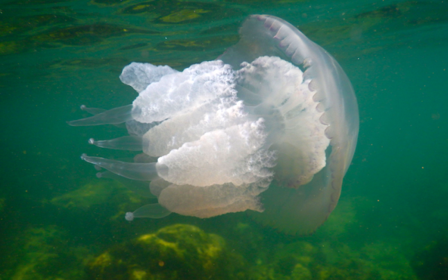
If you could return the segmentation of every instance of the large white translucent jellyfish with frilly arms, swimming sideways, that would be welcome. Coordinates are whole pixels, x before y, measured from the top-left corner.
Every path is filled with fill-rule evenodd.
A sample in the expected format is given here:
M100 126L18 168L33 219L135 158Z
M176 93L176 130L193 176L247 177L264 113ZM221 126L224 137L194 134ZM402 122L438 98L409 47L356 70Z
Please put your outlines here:
M69 125L123 126L128 136L89 143L141 151L134 162L81 158L157 203L126 213L209 218L248 211L289 234L311 234L334 210L350 166L359 113L334 58L288 22L251 15L239 42L183 71L132 62L121 81L131 105Z

